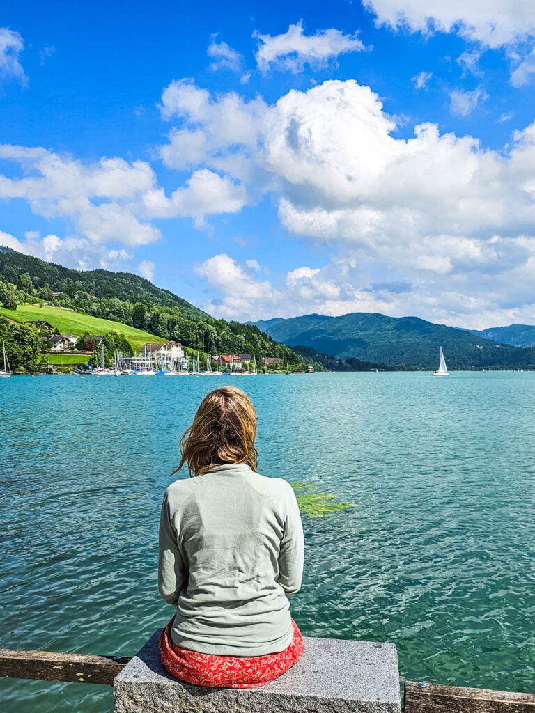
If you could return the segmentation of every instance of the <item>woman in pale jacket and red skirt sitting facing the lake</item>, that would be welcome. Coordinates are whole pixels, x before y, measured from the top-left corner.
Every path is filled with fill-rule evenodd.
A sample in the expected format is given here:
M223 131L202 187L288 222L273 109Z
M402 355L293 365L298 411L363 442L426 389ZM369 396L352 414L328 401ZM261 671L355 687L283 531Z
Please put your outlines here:
M163 498L158 584L176 614L161 656L198 685L258 687L303 651L287 599L301 586L299 508L286 481L256 472L256 432L243 391L212 391L180 440L177 471L187 463L193 477Z

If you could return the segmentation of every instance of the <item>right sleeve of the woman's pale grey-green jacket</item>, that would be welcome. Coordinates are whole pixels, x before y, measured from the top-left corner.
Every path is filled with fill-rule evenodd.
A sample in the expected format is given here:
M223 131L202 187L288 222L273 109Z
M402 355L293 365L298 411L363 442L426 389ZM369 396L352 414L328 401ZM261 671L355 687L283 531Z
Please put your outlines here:
M301 515L292 486L287 484L287 512L285 532L280 543L279 576L277 582L287 597L301 588L302 568L305 559L305 539L302 533Z

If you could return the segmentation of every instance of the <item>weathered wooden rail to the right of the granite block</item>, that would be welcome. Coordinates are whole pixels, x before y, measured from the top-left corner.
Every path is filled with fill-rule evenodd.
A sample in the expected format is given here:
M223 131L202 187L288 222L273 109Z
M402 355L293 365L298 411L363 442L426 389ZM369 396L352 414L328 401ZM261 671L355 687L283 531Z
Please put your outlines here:
M535 713L535 694L405 682L405 713Z

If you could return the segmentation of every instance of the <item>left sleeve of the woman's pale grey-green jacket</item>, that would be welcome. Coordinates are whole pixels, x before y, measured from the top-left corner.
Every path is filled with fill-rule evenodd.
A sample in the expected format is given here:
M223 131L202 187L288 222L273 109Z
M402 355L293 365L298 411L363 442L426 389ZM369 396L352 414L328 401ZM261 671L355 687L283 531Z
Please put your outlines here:
M163 498L160 515L159 541L158 590L165 602L176 605L185 582L185 567L178 550L178 536L170 518L167 492Z

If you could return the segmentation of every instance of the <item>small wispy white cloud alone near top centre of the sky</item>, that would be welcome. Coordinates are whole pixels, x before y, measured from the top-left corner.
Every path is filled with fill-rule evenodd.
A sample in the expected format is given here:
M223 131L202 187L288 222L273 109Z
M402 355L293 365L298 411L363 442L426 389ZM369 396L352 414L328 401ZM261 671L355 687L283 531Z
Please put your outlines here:
M258 41L256 62L263 73L272 67L300 72L305 64L321 67L341 54L366 49L357 33L345 35L340 30L327 29L305 35L302 20L290 25L284 34L263 35L255 31L253 37Z

